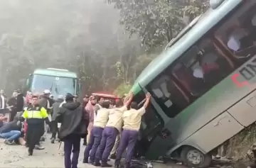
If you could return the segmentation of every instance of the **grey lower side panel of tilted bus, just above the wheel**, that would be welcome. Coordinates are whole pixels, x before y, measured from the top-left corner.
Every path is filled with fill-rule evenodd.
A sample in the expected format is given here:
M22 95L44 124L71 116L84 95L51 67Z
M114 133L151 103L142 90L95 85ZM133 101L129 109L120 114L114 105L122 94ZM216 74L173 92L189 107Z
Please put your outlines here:
M243 128L244 127L240 125L238 121L235 121L235 118L225 111L191 135L191 137L182 142L182 144L200 147L199 150L208 153L210 150L213 150L213 148L218 147L218 145L232 138Z

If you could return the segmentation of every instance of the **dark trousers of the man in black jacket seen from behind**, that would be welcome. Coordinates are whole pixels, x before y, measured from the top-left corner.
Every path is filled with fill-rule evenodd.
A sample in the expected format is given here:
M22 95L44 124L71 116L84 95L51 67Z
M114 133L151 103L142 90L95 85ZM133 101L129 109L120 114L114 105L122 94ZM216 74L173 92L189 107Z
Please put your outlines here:
M65 168L78 168L78 157L80 152L80 136L68 135L64 139ZM70 159L73 152L72 161Z

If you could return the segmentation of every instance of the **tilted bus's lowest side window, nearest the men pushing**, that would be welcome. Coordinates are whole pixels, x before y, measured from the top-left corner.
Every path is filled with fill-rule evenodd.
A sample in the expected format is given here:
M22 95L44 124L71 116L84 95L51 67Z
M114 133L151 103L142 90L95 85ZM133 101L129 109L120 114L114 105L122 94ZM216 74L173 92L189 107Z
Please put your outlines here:
M147 89L166 115L174 118L188 106L189 102L186 95L170 77L169 70L166 69L164 74L149 84Z

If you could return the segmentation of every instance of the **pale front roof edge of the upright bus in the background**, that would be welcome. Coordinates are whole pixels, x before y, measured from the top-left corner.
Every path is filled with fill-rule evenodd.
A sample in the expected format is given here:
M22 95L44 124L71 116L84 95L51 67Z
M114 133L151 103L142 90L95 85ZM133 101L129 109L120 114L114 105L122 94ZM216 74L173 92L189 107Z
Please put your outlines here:
M33 74L43 74L53 77L70 77L77 78L78 75L75 72L70 72L63 69L36 69Z

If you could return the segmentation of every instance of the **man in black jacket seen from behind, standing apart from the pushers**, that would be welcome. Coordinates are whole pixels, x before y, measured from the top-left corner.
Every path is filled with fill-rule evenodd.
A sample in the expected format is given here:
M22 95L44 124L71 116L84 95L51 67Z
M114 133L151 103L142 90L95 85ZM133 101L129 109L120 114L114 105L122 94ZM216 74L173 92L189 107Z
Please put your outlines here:
M73 99L72 94L67 94L65 103L56 116L56 120L61 123L60 140L64 142L65 168L78 168L80 140L86 137L89 124L89 116L82 113L82 106ZM72 162L71 152L73 152Z

